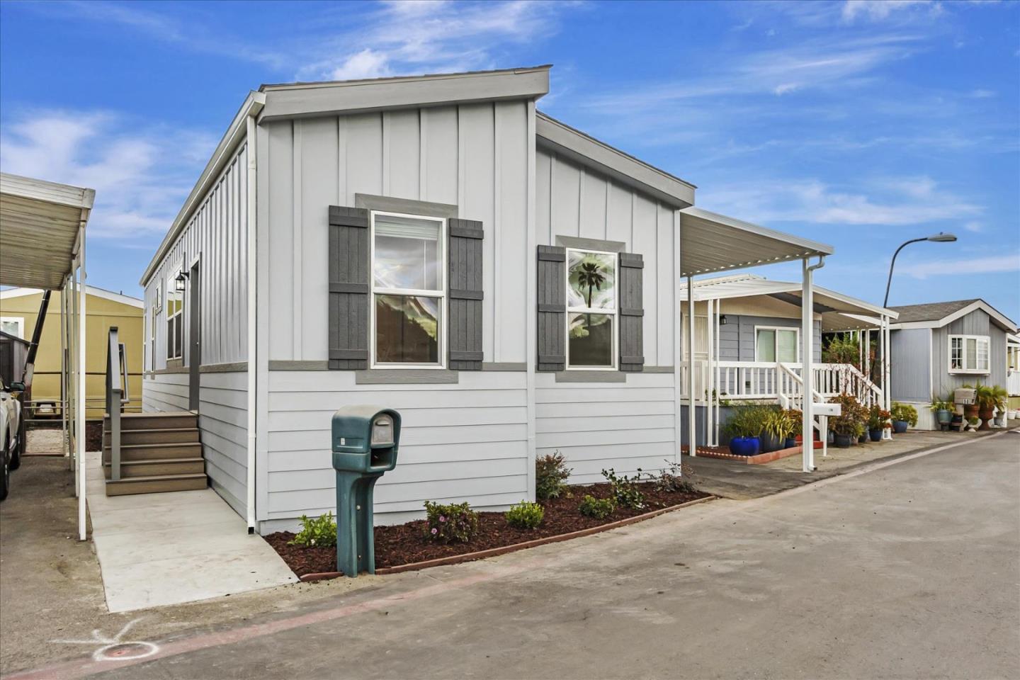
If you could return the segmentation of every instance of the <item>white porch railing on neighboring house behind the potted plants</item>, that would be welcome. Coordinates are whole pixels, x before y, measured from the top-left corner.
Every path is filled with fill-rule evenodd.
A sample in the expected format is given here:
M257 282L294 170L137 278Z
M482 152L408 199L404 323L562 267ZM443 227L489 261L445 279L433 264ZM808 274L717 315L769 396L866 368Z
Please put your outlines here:
M716 394L720 400L786 400L803 398L801 364L769 363L752 361L719 361ZM709 398L709 370L707 361L695 362L695 401L704 402ZM687 395L687 362L680 365L680 396ZM813 388L815 400L824 402L829 397L843 393L853 395L865 406L882 403L882 389L868 379L853 364L813 364ZM795 407L799 408L799 407Z

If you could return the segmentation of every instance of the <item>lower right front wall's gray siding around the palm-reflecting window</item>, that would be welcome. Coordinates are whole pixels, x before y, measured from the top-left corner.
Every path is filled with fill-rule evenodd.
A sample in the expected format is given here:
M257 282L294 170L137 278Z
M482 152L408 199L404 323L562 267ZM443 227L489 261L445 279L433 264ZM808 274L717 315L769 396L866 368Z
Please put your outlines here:
M595 239L622 242L624 252L641 255L645 367L671 367L674 209L541 146L537 166L539 245ZM562 453L573 469L570 483L603 481L603 468L661 469L676 454L673 389L672 372L626 373L626 382L557 382L554 373L539 373L536 456Z

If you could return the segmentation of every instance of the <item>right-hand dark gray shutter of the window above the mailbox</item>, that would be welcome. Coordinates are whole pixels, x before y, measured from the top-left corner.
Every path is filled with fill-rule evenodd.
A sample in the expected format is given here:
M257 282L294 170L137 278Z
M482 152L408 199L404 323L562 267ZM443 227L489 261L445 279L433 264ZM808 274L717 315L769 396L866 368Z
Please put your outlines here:
M450 369L480 371L481 349L481 222L449 220L450 226Z

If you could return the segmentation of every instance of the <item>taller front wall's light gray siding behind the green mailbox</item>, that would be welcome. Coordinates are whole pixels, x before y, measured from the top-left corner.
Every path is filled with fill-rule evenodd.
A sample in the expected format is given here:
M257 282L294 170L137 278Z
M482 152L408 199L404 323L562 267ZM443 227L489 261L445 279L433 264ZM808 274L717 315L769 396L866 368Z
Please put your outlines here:
M456 205L460 218L482 222L484 362L524 365L530 116L529 102L505 101L260 125L271 365L258 436L263 533L335 510L330 418L350 404L403 416L399 464L376 486L378 523L419 516L426 500L502 508L529 496L523 370L358 384L352 371L288 370L287 362L328 358L328 207L353 207L361 194Z

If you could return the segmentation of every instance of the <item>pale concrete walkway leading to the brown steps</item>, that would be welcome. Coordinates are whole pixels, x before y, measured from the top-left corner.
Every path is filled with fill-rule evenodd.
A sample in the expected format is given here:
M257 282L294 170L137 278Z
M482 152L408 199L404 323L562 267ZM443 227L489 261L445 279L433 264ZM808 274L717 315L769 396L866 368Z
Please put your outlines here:
M297 581L212 489L107 496L88 454L92 540L110 612L178 605Z

